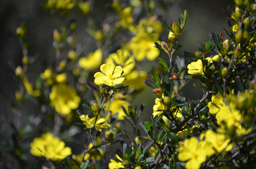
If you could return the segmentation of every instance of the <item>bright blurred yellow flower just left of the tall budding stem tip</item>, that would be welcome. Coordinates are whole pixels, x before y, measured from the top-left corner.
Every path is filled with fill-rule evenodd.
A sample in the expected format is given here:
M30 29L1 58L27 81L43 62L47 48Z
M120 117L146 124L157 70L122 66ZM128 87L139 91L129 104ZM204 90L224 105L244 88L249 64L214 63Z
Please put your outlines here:
M130 48L137 61L143 61L145 57L147 60L154 60L160 54L158 48L154 47L155 42L158 41L158 36L150 36L147 33L140 32L131 39ZM160 43L160 42L159 42Z

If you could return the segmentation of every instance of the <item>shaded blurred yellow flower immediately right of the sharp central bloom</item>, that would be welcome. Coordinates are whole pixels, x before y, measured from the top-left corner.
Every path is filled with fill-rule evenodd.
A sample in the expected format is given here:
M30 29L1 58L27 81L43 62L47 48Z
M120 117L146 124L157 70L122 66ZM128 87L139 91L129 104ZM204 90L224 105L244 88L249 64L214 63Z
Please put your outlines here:
M126 80L124 81L125 86L129 86L129 89L141 90L146 86L144 80L147 78L147 73L145 71L133 70L133 72L125 76Z

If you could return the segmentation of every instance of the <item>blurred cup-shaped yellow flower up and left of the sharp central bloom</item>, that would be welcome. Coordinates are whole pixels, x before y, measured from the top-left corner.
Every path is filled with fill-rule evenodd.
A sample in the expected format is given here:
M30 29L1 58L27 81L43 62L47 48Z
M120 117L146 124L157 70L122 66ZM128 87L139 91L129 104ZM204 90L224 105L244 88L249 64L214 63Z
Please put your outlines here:
M81 57L78 65L85 70L98 69L101 64L102 50L99 48L95 52L90 53L87 57Z

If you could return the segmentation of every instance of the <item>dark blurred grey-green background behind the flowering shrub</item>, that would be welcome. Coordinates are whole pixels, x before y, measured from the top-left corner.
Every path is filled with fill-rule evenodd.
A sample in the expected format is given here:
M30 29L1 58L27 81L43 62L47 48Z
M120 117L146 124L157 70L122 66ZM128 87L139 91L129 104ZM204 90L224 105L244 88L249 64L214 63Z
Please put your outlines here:
M94 28L98 26L98 29L101 29L104 18L108 14L107 5L112 3L112 1L97 0L91 2L93 9L91 10L90 16L97 18L97 23L93 26ZM123 3L129 4L128 1L123 1ZM155 6L157 6L156 14L159 16L159 20L164 20L166 23L177 22L177 17L180 17L180 14L183 14L184 10L188 10L189 19L185 26L186 32L181 35L179 39L179 44L183 45L183 47L176 52L175 56L183 57L184 51L189 51L194 54L200 46L200 42L202 44L205 43L207 35L212 32L215 34L222 33L222 26L228 27L225 21L226 14L222 10L222 7L226 8L227 5L231 4L231 0L155 1ZM13 139L12 135L15 131L11 126L19 126L26 121L29 117L26 112L29 114L29 112L41 111L33 105L33 102L23 105L18 111L14 111L15 108L12 107L12 102L15 100L15 91L19 85L15 79L15 68L22 64L23 58L22 48L15 35L16 28L18 28L21 21L24 21L27 31L26 38L29 42L29 55L37 60L36 64L30 68L29 74L38 76L40 73L44 72L44 68L47 65L53 63L56 57L56 51L53 46L53 30L60 28L62 25L67 25L72 20L75 20L77 24L76 31L77 34L79 34L77 41L86 46L86 52L88 54L96 50L96 42L85 29L91 22L88 20L88 17L84 17L84 15L77 12L77 8L73 8L68 14L62 15L59 12L46 10L43 6L43 2L40 0L0 0L1 152L4 152L3 146L10 146L8 142L4 142L3 140ZM168 29L166 29L166 26L163 27L164 31L159 38L160 41L167 41ZM164 56L163 53L160 55ZM186 57L184 57L184 59L186 64L193 61ZM157 64L156 61L151 61L146 68L150 70L150 67L155 64ZM201 99L203 92L193 87L193 83L194 82L190 82L188 86L184 87L183 92L190 100ZM137 96L136 100L137 105L142 103L146 104L144 110L145 114L151 114L153 112L152 108L155 97L151 93L151 88L146 87L141 94ZM145 119L141 119L141 121L148 120L148 116ZM11 163L10 159L12 159L12 153L13 152L5 154L5 159L8 159L9 163ZM1 153L0 158L3 158L2 155ZM20 164L18 163L18 159L12 160L13 162L9 167L19 168ZM5 162L0 161L0 163ZM1 166L4 165L0 164L0 168L2 168Z

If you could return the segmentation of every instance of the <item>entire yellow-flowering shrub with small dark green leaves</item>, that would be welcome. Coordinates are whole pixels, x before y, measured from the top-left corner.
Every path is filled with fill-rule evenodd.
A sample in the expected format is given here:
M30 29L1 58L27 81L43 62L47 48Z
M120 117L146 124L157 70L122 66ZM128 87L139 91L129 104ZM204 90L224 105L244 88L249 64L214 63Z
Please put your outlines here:
M86 29L97 42L86 57L88 49L76 41L75 21L54 29L56 59L35 79L29 77L34 59L25 24L16 29L23 64L14 71L19 90L13 106L21 109L33 100L41 111L16 134L31 146L21 149L22 139L14 140L23 167L256 167L255 2L236 0L234 8L228 7L229 28L223 28L227 39L224 33L211 33L195 54L184 52L195 60L187 66L180 57L174 63L173 55L182 47L178 41L188 11L177 23L163 21L168 40L160 42L163 26L152 12L154 1L147 8L140 2L131 1L128 7L109 3L109 15L116 19L108 18L102 29ZM62 15L75 6L85 16L92 12L90 1L43 4ZM133 10L142 9L147 16L137 14L136 22ZM158 60L158 68L143 70L153 60ZM194 84L204 92L201 100L190 101L181 92L190 79L201 82ZM131 102L146 86L153 88L156 99L149 121L140 122L145 105L138 109ZM114 150L116 145L122 149ZM24 158L29 150L37 164Z

